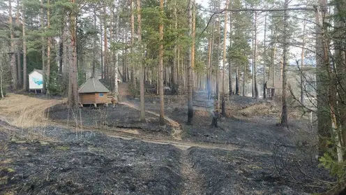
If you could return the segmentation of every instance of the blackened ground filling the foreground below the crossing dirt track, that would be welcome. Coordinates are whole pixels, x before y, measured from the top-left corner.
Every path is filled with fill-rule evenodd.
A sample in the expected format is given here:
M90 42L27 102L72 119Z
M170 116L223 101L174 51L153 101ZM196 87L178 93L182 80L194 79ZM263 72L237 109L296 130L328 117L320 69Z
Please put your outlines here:
M0 192L208 195L318 192L280 178L273 155L263 152L198 147L183 151L172 145L122 140L95 131L76 132L60 127L19 129L1 121L0 132Z

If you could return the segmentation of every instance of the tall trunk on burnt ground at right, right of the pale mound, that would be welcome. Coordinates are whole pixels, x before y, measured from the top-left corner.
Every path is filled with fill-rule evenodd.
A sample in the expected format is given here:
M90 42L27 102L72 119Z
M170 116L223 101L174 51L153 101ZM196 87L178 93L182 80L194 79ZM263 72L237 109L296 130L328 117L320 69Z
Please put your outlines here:
M288 8L288 2L289 0L285 0L285 9ZM283 23L283 31L287 32L288 27L288 15L287 10L284 12L284 23ZM288 126L288 115L287 115L287 50L288 50L288 43L287 43L287 34L284 34L283 37L283 112L281 113L281 125L284 127Z

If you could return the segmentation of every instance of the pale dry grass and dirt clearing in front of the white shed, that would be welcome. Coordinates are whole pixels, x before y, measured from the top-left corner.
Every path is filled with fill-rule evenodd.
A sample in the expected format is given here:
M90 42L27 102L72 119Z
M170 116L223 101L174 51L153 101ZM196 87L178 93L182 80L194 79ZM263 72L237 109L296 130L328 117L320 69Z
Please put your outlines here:
M0 101L0 117L17 127L27 128L42 126L47 122L45 109L66 99L40 99L21 94L8 94L6 99Z

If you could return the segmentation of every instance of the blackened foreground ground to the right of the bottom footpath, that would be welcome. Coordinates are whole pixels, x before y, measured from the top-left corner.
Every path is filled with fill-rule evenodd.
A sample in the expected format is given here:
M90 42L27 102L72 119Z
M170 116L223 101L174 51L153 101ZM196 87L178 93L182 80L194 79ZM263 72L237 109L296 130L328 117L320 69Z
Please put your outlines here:
M275 174L269 155L192 148L190 158L206 180L204 194L306 194Z

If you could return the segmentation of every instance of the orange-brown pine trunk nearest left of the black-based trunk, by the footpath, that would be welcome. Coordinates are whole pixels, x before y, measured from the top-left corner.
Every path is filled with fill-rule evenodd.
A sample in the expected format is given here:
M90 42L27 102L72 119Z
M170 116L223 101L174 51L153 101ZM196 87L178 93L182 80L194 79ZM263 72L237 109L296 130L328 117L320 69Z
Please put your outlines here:
M164 119L164 105L163 105L163 0L160 0L160 28L159 28L159 34L160 34L160 48L158 50L158 93L160 95L160 125L165 124Z

